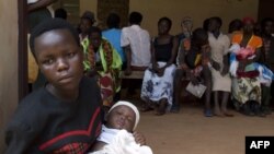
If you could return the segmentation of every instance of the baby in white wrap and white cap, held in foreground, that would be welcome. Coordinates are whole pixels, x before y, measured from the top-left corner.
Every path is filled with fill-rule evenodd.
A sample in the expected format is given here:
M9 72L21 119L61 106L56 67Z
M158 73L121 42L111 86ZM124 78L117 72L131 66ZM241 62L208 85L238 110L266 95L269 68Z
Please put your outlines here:
M149 146L135 142L133 131L139 122L139 111L128 102L117 102L106 115L106 125L94 144L92 154L152 154Z

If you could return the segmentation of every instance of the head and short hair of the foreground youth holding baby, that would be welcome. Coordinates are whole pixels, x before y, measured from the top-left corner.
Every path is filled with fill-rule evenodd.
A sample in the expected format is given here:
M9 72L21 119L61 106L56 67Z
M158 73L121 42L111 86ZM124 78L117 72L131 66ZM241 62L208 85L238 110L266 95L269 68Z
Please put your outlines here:
M76 28L61 19L45 20L32 32L30 47L54 91L75 92L83 73L83 55Z

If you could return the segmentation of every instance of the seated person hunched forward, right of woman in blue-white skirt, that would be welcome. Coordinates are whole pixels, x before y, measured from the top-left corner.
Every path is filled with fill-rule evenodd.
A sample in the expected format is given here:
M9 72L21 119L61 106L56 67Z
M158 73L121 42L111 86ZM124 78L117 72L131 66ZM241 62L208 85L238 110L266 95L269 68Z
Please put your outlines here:
M185 40L183 40L185 42ZM212 93L212 72L210 47L208 45L207 32L203 28L196 28L193 32L189 46L181 43L178 54L178 69L174 76L174 104L172 112L180 110L180 96L182 91L182 80L189 78L194 85L203 82L205 91L205 116L212 117L210 93Z

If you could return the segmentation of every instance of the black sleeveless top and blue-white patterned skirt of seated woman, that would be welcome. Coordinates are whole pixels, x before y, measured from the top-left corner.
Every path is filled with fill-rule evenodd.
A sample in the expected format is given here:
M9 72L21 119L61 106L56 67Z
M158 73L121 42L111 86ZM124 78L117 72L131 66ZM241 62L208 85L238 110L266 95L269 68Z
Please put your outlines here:
M153 46L156 50L156 61L158 66L164 67L171 58L172 52L172 39L168 44L158 44L156 38ZM141 86L141 99L148 102L159 102L162 98L168 99L168 104L172 105L173 99L173 78L174 78L175 64L171 64L165 68L162 76L157 75L152 70L152 64L145 71L145 76Z

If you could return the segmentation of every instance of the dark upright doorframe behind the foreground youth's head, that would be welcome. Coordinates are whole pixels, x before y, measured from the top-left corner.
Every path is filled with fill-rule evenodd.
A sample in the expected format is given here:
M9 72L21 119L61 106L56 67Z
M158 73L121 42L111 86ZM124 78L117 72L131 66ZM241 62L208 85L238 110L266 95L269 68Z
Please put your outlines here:
M28 93L27 87L27 4L18 0L18 95L19 102Z

